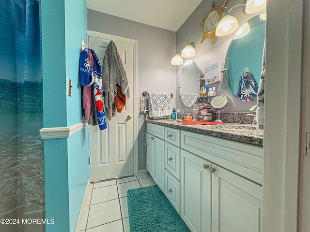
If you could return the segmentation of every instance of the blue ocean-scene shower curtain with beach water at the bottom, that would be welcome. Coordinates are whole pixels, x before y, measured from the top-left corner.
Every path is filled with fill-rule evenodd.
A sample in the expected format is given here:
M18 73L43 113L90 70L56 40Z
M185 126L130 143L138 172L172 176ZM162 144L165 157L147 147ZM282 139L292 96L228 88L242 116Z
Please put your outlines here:
M0 1L0 38L0 231L44 232L40 2Z

